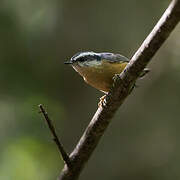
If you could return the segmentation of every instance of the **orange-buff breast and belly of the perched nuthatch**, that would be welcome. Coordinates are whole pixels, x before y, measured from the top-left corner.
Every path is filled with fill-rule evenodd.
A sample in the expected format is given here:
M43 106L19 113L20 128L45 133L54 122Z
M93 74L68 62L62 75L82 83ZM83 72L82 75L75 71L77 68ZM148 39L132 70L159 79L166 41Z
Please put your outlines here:
M115 74L120 74L126 67L127 62L109 63L102 61L99 66L79 66L75 65L73 68L84 78L85 82L94 88L109 92Z

